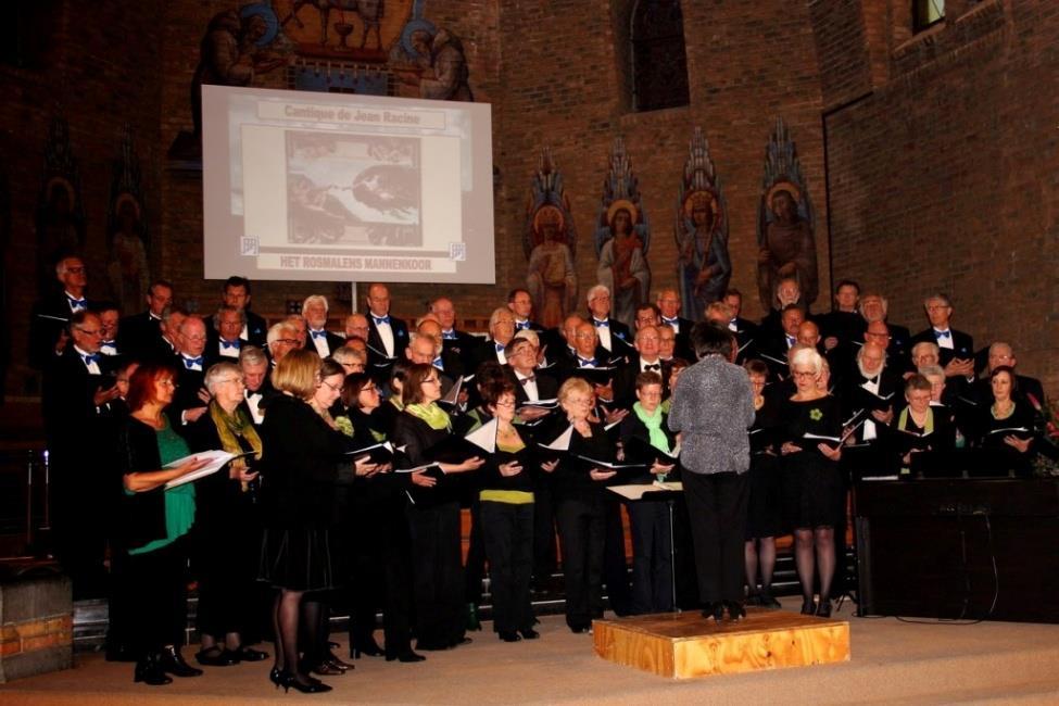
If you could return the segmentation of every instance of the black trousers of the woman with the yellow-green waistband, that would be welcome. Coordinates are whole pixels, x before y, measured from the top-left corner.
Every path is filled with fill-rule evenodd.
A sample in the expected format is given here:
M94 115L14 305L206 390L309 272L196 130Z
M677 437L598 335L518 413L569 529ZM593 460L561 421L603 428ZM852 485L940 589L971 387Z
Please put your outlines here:
M482 535L493 596L493 630L533 627L529 584L533 571L533 503L481 503Z

